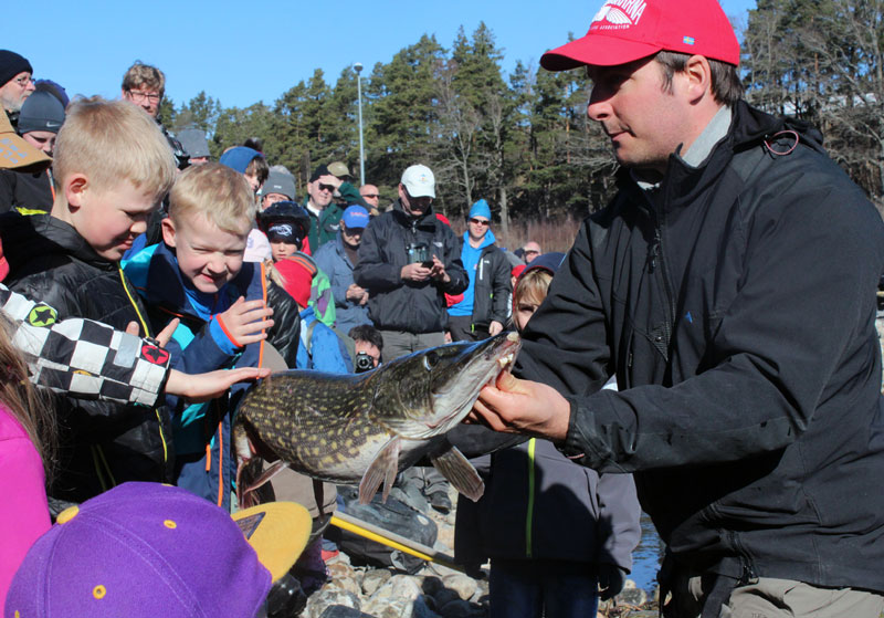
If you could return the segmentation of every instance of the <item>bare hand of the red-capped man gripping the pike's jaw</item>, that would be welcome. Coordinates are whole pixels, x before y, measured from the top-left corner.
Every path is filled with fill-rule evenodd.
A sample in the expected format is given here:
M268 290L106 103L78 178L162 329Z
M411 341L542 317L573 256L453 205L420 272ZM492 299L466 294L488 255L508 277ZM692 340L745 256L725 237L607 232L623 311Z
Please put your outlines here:
M520 380L504 371L495 386L478 392L467 422L507 433L527 433L561 442L568 434L571 407L551 386Z

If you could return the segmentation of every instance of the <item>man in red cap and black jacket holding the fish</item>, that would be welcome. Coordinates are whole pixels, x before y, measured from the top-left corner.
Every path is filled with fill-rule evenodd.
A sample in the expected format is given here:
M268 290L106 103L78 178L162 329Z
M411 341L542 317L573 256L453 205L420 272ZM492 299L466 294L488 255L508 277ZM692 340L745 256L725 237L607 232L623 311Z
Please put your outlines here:
M884 224L738 62L716 0L610 0L541 57L586 66L620 190L472 420L634 473L665 616L877 618Z

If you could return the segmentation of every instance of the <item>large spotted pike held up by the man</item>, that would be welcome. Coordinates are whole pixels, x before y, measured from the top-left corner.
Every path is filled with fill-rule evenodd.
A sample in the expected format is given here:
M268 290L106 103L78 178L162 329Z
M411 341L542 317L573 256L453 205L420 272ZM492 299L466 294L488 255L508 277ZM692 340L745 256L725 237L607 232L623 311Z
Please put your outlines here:
M502 333L417 352L365 374L274 374L240 406L238 455L245 461L260 444L314 479L359 483L364 503L381 484L386 501L397 473L429 457L457 491L478 500L484 483L445 433L513 364L520 345L516 333Z

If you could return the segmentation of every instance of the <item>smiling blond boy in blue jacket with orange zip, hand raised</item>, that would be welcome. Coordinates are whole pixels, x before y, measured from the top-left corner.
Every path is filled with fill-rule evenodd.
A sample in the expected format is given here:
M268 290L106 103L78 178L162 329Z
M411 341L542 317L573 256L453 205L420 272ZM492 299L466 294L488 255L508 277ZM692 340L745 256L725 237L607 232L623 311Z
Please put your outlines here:
M273 313L264 303L262 264L243 262L255 216L252 189L242 174L208 163L185 170L169 195L164 243L126 264L126 274L148 305L151 320L181 323L167 348L172 367L203 373L260 364ZM285 336L297 339L295 332ZM167 397L173 411L176 482L230 507L234 387L208 404Z

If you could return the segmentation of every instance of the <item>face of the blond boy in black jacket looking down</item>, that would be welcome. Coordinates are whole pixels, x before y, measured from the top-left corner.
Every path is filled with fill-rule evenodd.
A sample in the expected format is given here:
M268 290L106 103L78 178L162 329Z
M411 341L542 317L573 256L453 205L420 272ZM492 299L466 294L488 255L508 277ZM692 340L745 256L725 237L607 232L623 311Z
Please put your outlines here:
M67 178L64 190L67 205L53 206L53 217L71 223L98 255L110 262L118 262L135 238L147 230L147 219L158 203L154 193L146 193L129 180L99 189L83 174Z

